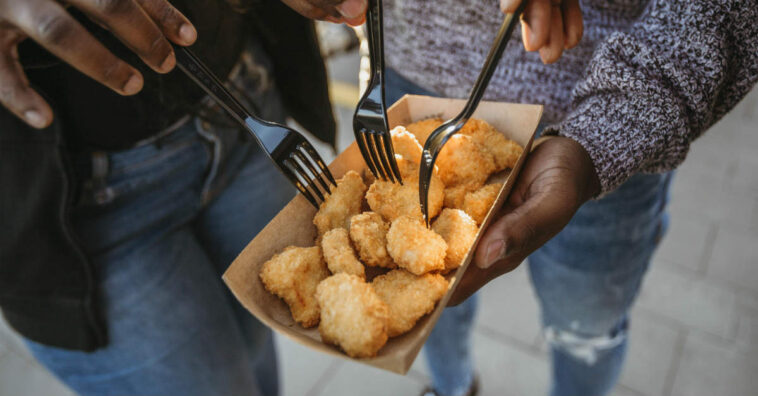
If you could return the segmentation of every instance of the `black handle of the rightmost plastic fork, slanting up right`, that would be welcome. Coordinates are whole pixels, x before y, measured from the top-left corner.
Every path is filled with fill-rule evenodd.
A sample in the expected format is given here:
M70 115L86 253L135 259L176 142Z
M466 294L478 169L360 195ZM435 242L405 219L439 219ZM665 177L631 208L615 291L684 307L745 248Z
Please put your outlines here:
M513 28L516 27L516 23L519 21L519 17L524 11L526 3L527 0L521 0L521 4L516 8L515 12L505 15L503 23L500 25L500 30L495 37L495 42L492 43L490 52L487 54L487 60L484 62L484 66L479 73L479 77L476 79L474 88L471 89L468 102L466 102L466 106L457 117L458 119L470 118L474 114L474 111L476 111L476 107L479 106L479 101L482 100L482 96L484 96L484 92L487 90L490 79L492 79L492 75L497 69L497 65L500 62L500 58L503 56L505 47L508 46L508 41L511 37L511 33L513 33Z

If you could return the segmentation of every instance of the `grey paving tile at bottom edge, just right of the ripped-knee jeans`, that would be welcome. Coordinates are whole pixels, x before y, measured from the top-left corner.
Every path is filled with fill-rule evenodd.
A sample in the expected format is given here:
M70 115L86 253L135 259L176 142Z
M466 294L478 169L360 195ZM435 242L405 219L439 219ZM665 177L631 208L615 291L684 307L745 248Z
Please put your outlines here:
M620 383L648 396L664 394L679 333L649 316L632 317Z

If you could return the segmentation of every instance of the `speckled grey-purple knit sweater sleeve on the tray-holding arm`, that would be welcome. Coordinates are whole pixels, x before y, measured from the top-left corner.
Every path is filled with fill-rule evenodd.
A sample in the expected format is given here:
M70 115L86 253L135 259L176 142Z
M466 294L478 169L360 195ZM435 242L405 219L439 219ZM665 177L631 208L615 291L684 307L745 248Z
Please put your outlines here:
M546 128L579 142L601 194L679 165L758 80L758 1L654 0L599 44L571 111Z

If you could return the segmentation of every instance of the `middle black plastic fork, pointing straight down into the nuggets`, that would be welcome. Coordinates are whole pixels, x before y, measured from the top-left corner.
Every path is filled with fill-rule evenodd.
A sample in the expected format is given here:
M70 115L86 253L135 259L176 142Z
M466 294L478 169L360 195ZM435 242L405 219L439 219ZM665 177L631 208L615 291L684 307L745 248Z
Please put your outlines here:
M368 2L366 34L371 59L371 79L353 116L355 141L374 177L402 183L403 179L392 148L392 136L387 123L387 109L384 101L384 37L381 0Z

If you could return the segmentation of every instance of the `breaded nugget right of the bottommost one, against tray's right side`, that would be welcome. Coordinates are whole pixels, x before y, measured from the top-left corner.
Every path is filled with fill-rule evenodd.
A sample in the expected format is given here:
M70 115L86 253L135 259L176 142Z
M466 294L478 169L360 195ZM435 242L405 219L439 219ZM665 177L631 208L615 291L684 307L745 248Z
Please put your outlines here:
M399 336L416 325L447 292L448 281L440 274L416 276L396 269L371 282L376 294L389 307L387 334Z

